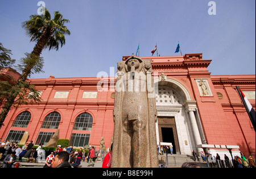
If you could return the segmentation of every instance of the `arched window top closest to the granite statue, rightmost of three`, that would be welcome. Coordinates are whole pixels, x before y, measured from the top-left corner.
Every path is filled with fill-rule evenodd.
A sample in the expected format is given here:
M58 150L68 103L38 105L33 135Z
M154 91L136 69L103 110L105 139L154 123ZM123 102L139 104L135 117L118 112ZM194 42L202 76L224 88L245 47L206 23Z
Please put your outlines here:
M92 122L92 115L90 115L89 113L82 113L77 116L73 130L90 131L92 130Z

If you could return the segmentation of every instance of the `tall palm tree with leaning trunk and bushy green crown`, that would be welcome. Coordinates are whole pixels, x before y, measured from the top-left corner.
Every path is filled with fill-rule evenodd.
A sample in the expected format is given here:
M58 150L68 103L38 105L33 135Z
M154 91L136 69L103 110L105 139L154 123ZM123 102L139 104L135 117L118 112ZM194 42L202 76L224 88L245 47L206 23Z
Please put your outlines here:
M59 11L54 12L54 18L51 19L51 14L46 9L45 15L31 15L30 20L22 23L22 27L26 30L26 34L31 38L30 41L35 41L36 45L30 54L26 54L27 58L23 61L22 74L15 86L21 88L24 85L27 77L30 76L31 72L42 72L42 58L40 57L43 49L56 49L63 47L65 44L65 35L70 35L70 31L64 25L68 23L68 19L63 19L63 15ZM13 93L6 99L5 105L3 105L0 113L0 128L13 105L17 93Z

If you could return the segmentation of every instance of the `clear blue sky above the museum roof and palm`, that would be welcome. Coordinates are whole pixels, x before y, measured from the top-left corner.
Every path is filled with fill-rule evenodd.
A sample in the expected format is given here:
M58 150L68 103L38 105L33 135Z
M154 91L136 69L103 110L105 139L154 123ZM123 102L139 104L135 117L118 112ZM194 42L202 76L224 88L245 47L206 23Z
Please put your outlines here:
M31 52L21 23L37 14L37 0L0 0L0 42L19 60ZM31 78L96 77L116 70L122 56L160 56L203 53L217 74L255 74L255 1L218 0L209 15L208 0L44 0L53 16L60 11L70 20L71 35L59 51L44 50L44 72Z

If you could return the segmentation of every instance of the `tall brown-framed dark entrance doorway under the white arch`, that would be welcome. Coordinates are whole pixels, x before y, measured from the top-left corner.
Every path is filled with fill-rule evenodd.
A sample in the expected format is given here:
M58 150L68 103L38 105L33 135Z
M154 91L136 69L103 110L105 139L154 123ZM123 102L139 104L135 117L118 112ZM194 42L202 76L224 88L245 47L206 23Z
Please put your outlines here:
M160 142L172 143L174 153L180 153L175 118L172 116L158 116L158 129Z

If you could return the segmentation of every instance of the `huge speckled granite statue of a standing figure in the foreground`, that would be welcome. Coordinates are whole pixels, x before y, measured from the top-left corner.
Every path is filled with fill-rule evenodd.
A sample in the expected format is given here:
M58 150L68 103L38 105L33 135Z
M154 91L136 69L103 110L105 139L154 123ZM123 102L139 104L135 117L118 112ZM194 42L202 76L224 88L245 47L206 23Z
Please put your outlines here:
M119 62L115 84L112 167L158 167L151 59Z

